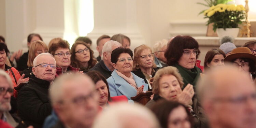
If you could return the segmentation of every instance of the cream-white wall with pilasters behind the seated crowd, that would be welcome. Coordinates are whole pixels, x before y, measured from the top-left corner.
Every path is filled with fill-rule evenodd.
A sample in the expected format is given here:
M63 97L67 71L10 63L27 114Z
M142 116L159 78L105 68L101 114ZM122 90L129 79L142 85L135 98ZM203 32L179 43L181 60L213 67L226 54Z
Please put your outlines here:
M176 34L205 35L207 19L198 13L206 7L196 2L204 1L94 0L94 30L88 34L93 40L92 48L96 49L96 39L102 34L126 34L131 38L132 49L141 44L153 46L154 42ZM237 2L244 4L244 0ZM256 10L250 2L255 1L249 0L249 19L256 20ZM69 8L65 3L71 3ZM45 43L63 38L64 33L76 35L79 26L72 4L72 0L1 0L0 35L4 35L11 51L26 51L27 35L31 32L40 33Z

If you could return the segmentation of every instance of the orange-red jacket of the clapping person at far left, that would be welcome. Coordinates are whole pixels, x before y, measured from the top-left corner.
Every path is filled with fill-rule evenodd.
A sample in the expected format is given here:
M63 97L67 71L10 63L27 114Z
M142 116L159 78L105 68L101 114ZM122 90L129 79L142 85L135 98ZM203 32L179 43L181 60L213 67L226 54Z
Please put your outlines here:
M9 68L10 68L10 67L9 67ZM14 74L14 76L15 76L16 82L18 82L18 80L20 79L19 71L16 70L14 67L11 67L10 69L12 70L12 72L13 72L13 74ZM12 72L10 71L10 69L8 69L8 70L5 71L5 72L8 73L9 76L11 77L12 83L13 83L13 87L17 87L17 84L16 84L16 82L15 82L14 76L12 75ZM17 98L17 90L15 90L15 89L13 89L13 90L14 90L14 91L13 91L13 96L14 96L15 98Z

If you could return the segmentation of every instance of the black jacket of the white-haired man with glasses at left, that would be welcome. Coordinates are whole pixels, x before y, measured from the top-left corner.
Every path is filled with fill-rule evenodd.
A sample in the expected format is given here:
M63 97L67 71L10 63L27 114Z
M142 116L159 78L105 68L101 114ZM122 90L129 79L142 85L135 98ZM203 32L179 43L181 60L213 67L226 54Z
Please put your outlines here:
M48 97L50 83L37 77L18 90L17 106L19 116L26 125L42 128L45 118L51 114L52 107Z

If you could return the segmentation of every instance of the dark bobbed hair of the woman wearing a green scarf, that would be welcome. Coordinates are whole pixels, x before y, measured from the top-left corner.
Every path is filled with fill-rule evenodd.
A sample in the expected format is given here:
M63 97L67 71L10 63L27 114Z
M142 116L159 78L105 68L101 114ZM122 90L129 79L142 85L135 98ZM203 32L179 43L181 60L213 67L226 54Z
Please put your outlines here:
M177 35L172 39L170 44L167 46L165 52L166 63L168 66L172 66L179 61L183 55L183 49L198 49L198 42L188 35ZM196 59L199 57L200 50L198 49L198 54Z

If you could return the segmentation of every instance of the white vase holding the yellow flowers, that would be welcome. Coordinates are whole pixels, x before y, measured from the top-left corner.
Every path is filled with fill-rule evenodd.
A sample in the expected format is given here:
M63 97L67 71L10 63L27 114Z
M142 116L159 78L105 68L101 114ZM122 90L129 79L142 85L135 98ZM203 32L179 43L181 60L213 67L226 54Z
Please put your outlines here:
M223 28L217 28L217 34L219 38L223 38L225 36L237 38L238 32L239 28L226 28L226 30Z

